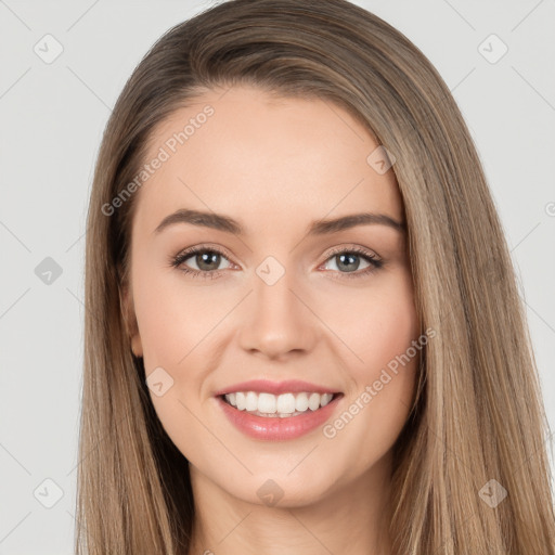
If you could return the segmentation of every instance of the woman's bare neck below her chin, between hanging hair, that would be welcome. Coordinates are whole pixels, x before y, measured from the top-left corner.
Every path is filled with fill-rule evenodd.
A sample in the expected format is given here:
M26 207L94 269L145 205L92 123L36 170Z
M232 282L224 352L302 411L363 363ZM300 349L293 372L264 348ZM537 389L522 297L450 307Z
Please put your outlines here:
M390 555L390 457L300 506L267 506L230 495L191 465L195 500L188 555Z

